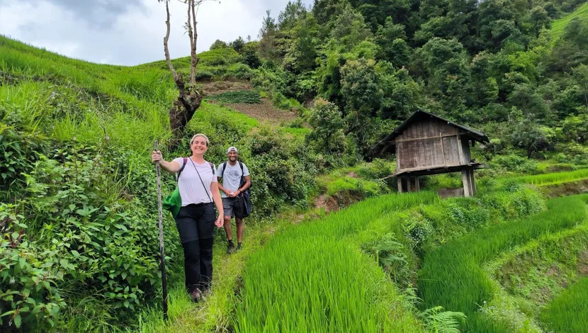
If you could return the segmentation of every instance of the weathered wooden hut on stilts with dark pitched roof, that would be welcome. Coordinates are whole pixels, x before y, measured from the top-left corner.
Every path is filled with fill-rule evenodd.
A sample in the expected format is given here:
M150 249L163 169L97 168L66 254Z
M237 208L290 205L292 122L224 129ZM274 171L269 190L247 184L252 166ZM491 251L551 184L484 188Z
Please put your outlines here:
M470 142L489 140L482 132L419 109L373 149L375 154L396 153L398 192L419 191L419 176L460 171L463 196L473 196L474 170L487 166L472 159Z

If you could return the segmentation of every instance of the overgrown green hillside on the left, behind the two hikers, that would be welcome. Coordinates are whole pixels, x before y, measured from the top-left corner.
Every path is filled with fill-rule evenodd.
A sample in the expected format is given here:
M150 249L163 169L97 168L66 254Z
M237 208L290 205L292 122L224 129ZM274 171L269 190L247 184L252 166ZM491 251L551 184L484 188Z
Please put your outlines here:
M217 72L230 72L225 62L234 61L234 52L200 57L203 69L219 64ZM156 304L154 140L169 159L186 156L189 137L205 132L206 158L215 164L237 145L256 179L253 219L307 205L317 168L315 155L301 145L304 132L262 125L204 101L179 150L169 152L175 94L161 62L92 64L0 36L3 332L132 327L139 310ZM173 188L171 175L164 175L164 195ZM167 214L165 224L169 276L176 281L183 274L181 248Z

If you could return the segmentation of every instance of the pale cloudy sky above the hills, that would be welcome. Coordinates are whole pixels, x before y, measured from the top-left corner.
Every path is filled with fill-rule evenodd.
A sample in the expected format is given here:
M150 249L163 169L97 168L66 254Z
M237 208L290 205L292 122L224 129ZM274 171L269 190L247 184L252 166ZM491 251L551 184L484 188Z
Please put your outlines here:
M313 0L303 0L310 6ZM288 0L206 2L198 13L198 52L215 40L256 39L271 9ZM190 54L186 5L170 2L172 58ZM157 0L0 0L0 34L91 62L135 65L164 58L165 6Z

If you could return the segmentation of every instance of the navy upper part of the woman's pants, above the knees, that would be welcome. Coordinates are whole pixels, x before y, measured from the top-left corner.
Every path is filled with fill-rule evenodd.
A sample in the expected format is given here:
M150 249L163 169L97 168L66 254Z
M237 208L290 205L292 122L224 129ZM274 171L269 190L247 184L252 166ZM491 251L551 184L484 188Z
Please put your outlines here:
M213 203L191 204L180 209L176 216L176 227L180 242L207 239L215 235L215 206Z

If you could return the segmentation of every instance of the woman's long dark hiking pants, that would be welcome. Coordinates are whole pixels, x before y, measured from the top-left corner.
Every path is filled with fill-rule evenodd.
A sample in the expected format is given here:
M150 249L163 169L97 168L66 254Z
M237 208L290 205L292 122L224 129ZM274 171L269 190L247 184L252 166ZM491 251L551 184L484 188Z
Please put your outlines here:
M196 288L207 290L212 284L215 220L213 203L187 205L176 217L188 293Z

